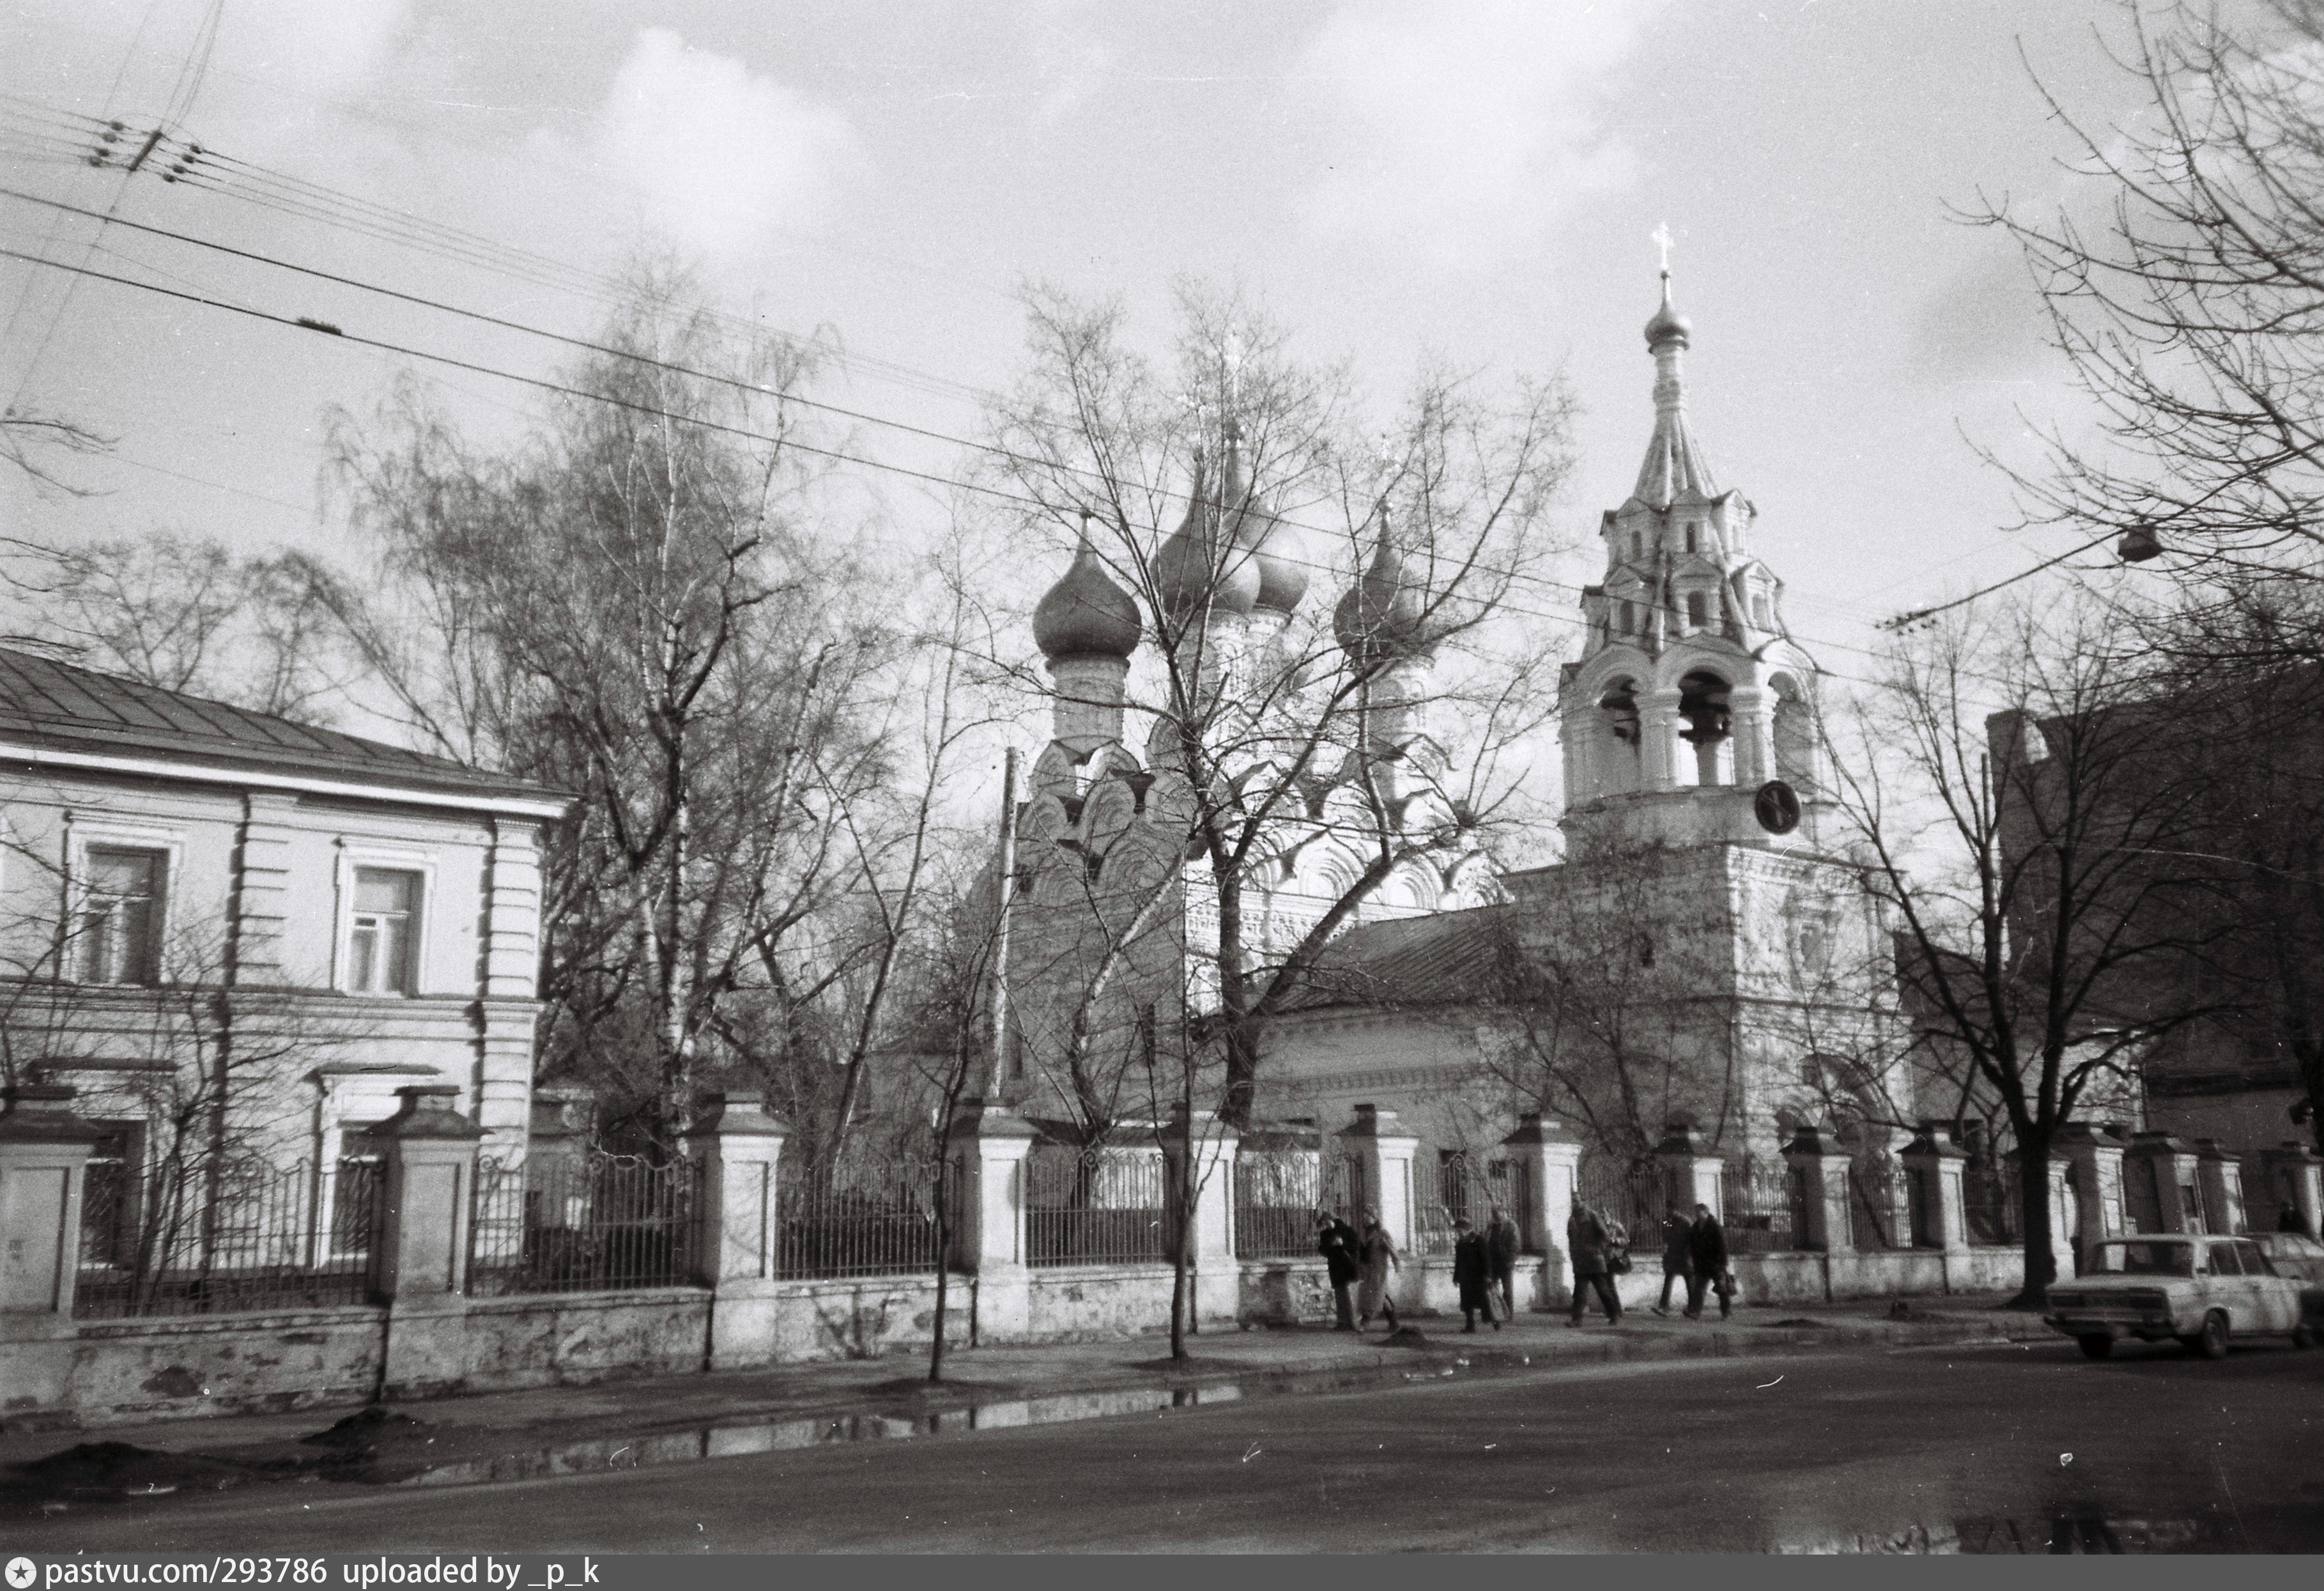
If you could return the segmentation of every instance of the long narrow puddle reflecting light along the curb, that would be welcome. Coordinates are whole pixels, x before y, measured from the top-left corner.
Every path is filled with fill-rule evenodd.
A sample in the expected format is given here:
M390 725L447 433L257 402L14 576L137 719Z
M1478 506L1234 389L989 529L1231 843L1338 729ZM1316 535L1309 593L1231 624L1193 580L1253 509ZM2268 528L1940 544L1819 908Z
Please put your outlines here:
M1353 1380L1353 1377L1350 1377ZM1290 1391L1290 1389L1276 1389ZM1301 1387L1299 1391L1315 1391ZM653 1463L695 1463L700 1459L737 1459L744 1454L832 1447L844 1442L895 1442L946 1431L1004 1431L1013 1426L1053 1426L1076 1419L1113 1419L1118 1414L1155 1414L1164 1410L1239 1403L1239 1384L1211 1387L1134 1387L1125 1391L1060 1391L1041 1398L995 1398L930 1414L832 1414L816 1419L772 1419L758 1424L704 1426L660 1435L600 1438L558 1442L514 1454L453 1459L411 1470L381 1463L376 1470L337 1475L335 1480L383 1482L397 1486L476 1486L500 1480L539 1475L595 1475L602 1470L637 1470Z

